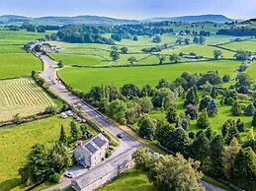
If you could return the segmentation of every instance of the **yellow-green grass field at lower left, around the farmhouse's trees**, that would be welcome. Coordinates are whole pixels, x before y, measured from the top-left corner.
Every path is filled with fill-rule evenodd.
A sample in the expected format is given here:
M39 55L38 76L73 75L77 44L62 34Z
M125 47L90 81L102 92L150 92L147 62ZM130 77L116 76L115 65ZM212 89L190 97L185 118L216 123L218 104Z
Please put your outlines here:
M0 190L24 190L19 187L18 169L25 163L31 148L35 144L57 141L61 124L69 136L70 120L53 116L0 130ZM89 127L89 132L95 134L92 127Z

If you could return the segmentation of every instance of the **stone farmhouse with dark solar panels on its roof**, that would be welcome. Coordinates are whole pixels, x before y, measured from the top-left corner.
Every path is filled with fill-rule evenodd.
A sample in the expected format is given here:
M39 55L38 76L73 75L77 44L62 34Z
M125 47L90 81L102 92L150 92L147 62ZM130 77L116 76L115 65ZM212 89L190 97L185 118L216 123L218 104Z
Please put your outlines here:
M84 167L93 167L105 159L110 141L101 133L87 140L79 142L74 150L74 157Z

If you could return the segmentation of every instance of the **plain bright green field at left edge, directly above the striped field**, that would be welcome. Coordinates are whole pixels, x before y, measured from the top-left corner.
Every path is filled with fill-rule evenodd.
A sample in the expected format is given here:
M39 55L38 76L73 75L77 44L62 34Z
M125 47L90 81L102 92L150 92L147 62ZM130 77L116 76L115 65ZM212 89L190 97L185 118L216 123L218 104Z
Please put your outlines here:
M42 67L41 60L29 53L0 54L0 80L28 75Z

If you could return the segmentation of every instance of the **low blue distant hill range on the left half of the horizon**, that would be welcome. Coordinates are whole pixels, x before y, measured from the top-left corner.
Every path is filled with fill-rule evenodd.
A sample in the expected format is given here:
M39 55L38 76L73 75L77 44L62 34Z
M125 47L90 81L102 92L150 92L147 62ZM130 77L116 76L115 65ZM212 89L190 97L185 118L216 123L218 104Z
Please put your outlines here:
M58 25L86 24L86 25L124 25L139 24L135 20L114 19L100 16L76 16L76 17L42 17L28 18L23 16L4 15L0 16L1 25L22 25L29 22L33 25Z

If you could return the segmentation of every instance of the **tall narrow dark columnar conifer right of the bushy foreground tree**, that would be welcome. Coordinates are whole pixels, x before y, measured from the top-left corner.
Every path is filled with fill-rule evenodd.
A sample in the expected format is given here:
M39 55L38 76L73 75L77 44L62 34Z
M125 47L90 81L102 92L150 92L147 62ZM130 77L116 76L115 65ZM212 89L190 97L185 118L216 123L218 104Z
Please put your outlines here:
M224 151L224 140L221 135L217 135L213 138L210 148L210 159L212 161L211 173L215 177L223 177L224 172L224 161L223 161L223 151Z

